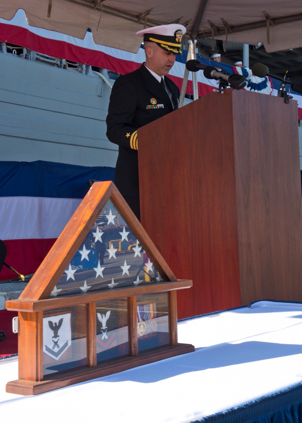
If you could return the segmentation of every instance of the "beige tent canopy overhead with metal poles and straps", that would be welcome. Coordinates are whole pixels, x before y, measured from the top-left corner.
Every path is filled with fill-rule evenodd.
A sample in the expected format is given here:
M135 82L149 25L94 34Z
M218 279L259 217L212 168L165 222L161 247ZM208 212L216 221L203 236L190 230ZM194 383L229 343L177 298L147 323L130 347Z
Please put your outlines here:
M179 22L196 38L246 44L263 42L267 52L302 47L301 0L0 0L0 17L25 11L29 25L84 38L91 28L96 44L137 52L144 25Z

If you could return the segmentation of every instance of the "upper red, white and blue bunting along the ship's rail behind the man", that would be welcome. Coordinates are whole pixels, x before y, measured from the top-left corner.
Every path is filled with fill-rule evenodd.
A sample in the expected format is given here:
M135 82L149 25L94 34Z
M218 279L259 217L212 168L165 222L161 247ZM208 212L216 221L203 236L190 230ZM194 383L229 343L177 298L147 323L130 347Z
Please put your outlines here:
M55 31L32 27L28 25L25 12L22 9L19 9L14 18L10 21L0 19L0 41L27 47L28 49L51 57L98 66L119 74L126 74L134 71L145 60L143 49L139 49L135 54L101 46L93 41L91 32L87 32L85 38L80 39ZM178 85L179 89L181 89L184 77L186 62L185 53L186 52L184 52L182 56L176 56L176 62L169 73L169 77ZM203 64L212 66L217 64L205 58L198 58L198 60ZM244 74L248 81L248 85L245 88L246 90L277 96L277 81L268 77L255 77L250 69L237 68L236 66L222 63L220 63L220 65L230 73L233 71L235 73ZM199 96L204 96L210 93L213 88L217 88L216 81L206 79L203 76L203 71L197 73L197 80ZM186 93L193 93L191 72L189 73ZM302 119L302 96L294 93L294 99L298 101L298 115L299 118Z

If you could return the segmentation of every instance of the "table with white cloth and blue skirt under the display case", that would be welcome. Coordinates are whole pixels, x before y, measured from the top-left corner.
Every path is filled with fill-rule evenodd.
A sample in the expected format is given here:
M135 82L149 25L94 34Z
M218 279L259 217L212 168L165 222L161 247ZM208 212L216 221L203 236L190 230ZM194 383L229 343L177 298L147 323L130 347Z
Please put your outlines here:
M302 421L301 303L263 301L186 319L178 323L178 342L192 343L195 352L29 397L5 393L6 382L18 378L18 362L1 360L1 417L44 423Z

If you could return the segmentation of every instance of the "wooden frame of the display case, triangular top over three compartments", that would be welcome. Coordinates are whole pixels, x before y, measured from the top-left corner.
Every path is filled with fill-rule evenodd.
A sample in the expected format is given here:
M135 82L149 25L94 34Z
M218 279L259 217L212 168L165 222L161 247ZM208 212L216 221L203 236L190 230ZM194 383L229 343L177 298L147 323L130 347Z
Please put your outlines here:
M124 216L133 234L140 240L141 246L166 281L74 296L49 297L109 199ZM19 299L7 301L5 304L9 310L19 311L19 379L8 382L6 385L7 392L33 395L194 351L192 345L178 344L177 341L176 289L190 286L192 286L191 280L176 279L113 182L94 183ZM158 352L156 350L151 353L138 354L136 296L167 291L169 292L170 346L160 348ZM128 299L129 357L114 360L113 363L106 366L98 366L95 341L96 302L117 298ZM43 310L53 310L72 305L85 305L87 310L88 366L82 371L71 371L63 376L54 376L52 379L46 380L43 377Z

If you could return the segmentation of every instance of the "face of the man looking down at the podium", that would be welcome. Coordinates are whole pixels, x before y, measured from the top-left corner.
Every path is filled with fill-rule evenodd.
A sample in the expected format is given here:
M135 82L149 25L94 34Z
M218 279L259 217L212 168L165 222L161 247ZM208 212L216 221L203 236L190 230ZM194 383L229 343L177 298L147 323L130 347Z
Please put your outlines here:
M152 43L152 47L146 48L146 66L159 76L167 75L174 62L175 54L167 52L157 44Z

